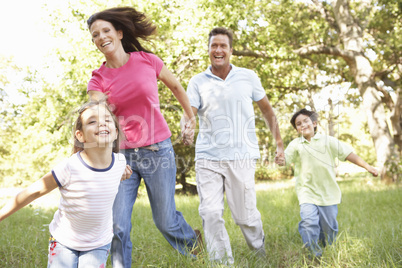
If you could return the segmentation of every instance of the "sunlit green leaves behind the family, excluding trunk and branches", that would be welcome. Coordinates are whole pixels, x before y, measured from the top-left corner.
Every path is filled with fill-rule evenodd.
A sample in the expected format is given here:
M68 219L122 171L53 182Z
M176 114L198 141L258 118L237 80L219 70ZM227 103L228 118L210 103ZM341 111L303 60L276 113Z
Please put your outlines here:
M327 1L318 1L328 14L333 15ZM344 85L352 81L346 63L324 56L298 57L294 52L306 44L340 46L336 26L333 27L306 1L64 1L58 5L49 2L44 8L49 16L43 18L52 27L58 45L49 54L52 61L43 61L39 71L13 71L25 79L15 87L28 98L21 106L12 106L0 91L3 129L0 135L0 175L8 184L26 184L48 172L52 165L69 155L71 146L71 117L76 107L87 100L86 86L91 72L104 61L92 44L87 29L87 18L96 11L113 6L133 6L144 11L158 26L158 33L147 47L161 57L186 88L190 78L209 65L208 33L215 26L234 31L233 64L254 70L261 78L281 128L284 144L297 133L289 124L295 110L315 107L314 95L330 85ZM375 71L385 72L390 79L400 77L396 68L401 58L401 2L374 1L368 8L351 1L356 19L367 23L364 44ZM245 56L240 52L254 52ZM374 55L374 56L372 56ZM56 60L54 60L56 58ZM0 88L9 84L3 70L9 70L10 60L0 63ZM46 74L54 74L49 80ZM396 80L400 87L400 79ZM2 86L3 85L3 86ZM387 88L394 92L393 88ZM343 107L358 109L361 97L353 85L347 92ZM172 140L180 136L179 120L182 109L172 93L159 84L161 109L172 131ZM4 109L3 107L9 107ZM322 112L323 130L328 112ZM257 135L263 150L275 152L276 145L256 107ZM351 130L355 123L338 122L341 139L356 143L355 148L368 162L374 163L373 145L366 128ZM361 120L358 125L361 125ZM349 136L348 136L349 135ZM350 136L352 135L352 136ZM365 137L362 142L361 137ZM358 140L355 140L358 138ZM174 145L178 156L178 177L194 174L194 147L180 142ZM184 172L184 173L183 173ZM277 177L275 172L258 169L259 177ZM264 175L265 174L265 175ZM3 182L4 183L4 182Z

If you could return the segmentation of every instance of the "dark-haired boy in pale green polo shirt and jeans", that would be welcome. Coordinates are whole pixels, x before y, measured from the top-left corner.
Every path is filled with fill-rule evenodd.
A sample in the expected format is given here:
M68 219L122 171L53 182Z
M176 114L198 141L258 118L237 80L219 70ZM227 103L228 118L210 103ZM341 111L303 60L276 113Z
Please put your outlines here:
M341 191L336 182L335 158L348 160L365 168L374 176L375 168L367 164L353 149L338 139L317 133L318 114L306 109L296 112L290 123L300 137L291 141L285 159L275 159L279 165L294 164L296 193L300 204L299 233L303 244L313 255L321 257L322 249L331 245L338 233L338 204Z

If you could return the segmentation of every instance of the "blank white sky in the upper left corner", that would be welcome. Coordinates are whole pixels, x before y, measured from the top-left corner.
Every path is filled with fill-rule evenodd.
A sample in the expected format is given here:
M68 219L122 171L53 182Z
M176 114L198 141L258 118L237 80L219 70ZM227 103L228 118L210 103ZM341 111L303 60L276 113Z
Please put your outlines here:
M55 2L58 1L54 0L53 3ZM44 57L56 44L49 34L51 26L43 20L48 16L43 8L45 3L52 1L13 0L0 4L1 57L11 58L15 65L22 68L29 66L31 70L40 70L43 67ZM25 99L17 89L21 88L25 72L16 72L11 68L5 72L4 75L10 83L4 90L10 101L16 104L24 103Z

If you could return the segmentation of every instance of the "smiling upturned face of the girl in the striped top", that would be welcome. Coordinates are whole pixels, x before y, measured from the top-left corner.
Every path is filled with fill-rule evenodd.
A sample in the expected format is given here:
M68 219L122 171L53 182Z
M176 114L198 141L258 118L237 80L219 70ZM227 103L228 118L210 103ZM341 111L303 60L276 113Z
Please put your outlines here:
M76 138L84 148L113 147L118 130L112 114L104 105L89 107L81 114L82 129L76 130Z

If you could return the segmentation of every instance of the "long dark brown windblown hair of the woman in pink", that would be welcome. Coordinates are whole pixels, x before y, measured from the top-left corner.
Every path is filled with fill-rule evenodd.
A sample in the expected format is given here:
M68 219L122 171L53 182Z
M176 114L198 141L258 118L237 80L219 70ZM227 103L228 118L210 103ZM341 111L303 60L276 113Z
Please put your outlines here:
M96 20L110 22L117 31L123 31L121 40L126 53L145 51L138 38L148 41L148 37L156 33L156 26L144 13L138 12L132 7L115 7L93 14L87 20L88 29Z

